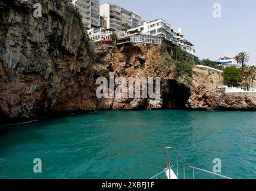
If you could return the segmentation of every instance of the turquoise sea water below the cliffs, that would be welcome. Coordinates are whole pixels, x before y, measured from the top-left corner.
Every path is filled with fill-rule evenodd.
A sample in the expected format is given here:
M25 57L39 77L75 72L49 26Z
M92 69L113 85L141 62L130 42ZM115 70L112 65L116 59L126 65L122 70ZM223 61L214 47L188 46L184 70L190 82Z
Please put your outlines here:
M194 167L212 171L220 158L221 174L256 178L256 112L109 111L2 127L0 178L150 178L167 146Z

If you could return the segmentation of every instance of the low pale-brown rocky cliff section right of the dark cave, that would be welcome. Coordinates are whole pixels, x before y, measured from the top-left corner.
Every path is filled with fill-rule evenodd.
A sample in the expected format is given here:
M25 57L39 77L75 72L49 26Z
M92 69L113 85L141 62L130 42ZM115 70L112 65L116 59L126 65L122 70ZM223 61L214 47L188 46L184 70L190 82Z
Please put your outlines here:
M187 109L199 110L255 110L255 93L225 93L217 90L223 85L221 73L205 69L194 69L191 96Z

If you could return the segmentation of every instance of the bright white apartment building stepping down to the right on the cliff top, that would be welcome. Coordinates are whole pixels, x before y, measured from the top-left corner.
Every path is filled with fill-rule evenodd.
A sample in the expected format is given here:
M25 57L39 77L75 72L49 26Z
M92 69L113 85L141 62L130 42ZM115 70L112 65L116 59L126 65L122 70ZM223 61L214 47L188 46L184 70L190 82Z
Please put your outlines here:
M173 44L179 45L182 50L194 55L194 45L185 40L181 29L176 32L172 29L169 23L163 19L157 19L150 22L144 22L143 25L127 30L128 35L133 33L141 33L144 35L155 35L161 36L164 39L172 42Z

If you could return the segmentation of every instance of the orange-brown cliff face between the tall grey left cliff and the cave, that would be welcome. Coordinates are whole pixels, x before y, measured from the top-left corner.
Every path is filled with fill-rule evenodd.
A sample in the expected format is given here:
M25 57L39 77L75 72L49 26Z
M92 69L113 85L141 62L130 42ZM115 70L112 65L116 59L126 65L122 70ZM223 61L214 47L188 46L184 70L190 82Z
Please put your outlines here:
M163 57L169 53L164 45L126 44L109 47L97 45L95 48L97 75L109 78L109 72L115 73L115 78L124 77L158 77L168 79L172 75L170 68L161 66ZM163 81L162 81L163 82ZM164 81L166 82L166 81ZM166 86L162 84L162 87ZM162 88L165 90L166 88ZM130 109L161 109L163 98L103 98L98 100L98 109L130 110Z

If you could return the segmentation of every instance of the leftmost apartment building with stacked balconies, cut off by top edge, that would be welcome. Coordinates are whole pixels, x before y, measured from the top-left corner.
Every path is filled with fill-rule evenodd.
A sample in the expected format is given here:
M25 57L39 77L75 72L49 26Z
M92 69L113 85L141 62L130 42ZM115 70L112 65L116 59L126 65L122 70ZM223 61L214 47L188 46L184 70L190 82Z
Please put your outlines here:
M78 7L86 29L100 27L99 0L77 0L73 3Z

